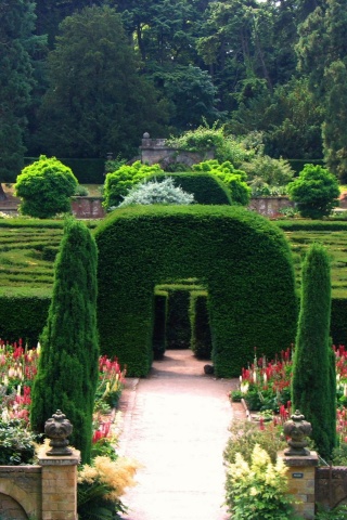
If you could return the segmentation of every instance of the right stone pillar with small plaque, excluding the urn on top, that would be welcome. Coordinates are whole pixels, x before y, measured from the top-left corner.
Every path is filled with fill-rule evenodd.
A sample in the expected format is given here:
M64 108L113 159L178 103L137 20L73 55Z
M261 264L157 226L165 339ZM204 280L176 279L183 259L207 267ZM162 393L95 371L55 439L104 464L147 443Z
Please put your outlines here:
M299 502L295 510L306 519L314 518L314 477L318 455L310 452L306 456L279 454L288 468L288 493Z

